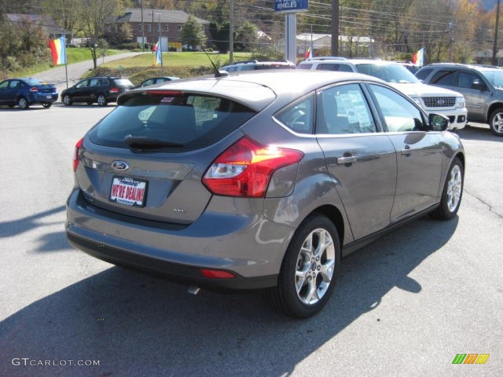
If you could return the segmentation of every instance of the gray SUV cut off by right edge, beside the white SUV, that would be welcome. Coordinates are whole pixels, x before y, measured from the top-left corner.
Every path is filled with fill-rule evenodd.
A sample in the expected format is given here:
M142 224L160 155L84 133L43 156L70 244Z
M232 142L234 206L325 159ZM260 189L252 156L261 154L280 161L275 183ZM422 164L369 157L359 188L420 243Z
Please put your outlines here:
M503 136L503 69L490 65L434 63L415 75L427 84L462 93L468 121L487 123L494 135Z

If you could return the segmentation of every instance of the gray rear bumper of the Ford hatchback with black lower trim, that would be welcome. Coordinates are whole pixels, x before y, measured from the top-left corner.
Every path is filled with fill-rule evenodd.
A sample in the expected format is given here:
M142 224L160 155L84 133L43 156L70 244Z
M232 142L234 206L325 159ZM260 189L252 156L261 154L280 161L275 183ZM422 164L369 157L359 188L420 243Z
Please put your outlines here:
M207 210L181 226L140 220L89 204L79 190L67 200L68 241L107 262L213 289L274 287L293 230L256 215ZM201 269L232 278L208 278Z

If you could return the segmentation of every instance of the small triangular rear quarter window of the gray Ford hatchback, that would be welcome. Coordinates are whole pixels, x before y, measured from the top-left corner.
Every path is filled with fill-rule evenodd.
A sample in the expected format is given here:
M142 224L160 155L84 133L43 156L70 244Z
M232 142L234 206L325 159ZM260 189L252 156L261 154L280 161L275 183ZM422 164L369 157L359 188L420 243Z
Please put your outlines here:
M299 134L312 134L314 95L287 106L275 118Z

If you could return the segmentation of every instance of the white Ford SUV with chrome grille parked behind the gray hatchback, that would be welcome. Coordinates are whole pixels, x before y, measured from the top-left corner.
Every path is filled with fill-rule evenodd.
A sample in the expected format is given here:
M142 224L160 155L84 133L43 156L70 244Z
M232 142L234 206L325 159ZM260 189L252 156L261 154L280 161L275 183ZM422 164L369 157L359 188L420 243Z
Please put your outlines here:
M460 130L466 125L467 109L461 93L426 85L400 63L372 59L316 57L300 62L297 68L360 72L378 77L404 92L428 114L445 115L450 121L449 129Z

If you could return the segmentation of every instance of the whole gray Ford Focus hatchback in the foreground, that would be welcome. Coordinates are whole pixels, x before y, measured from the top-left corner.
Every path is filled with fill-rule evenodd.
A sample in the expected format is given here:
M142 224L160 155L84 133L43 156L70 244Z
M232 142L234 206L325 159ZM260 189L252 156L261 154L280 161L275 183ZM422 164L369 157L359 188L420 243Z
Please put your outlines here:
M305 318L342 257L456 216L465 156L447 118L358 73L217 76L128 91L76 143L73 246L193 292L266 289Z

